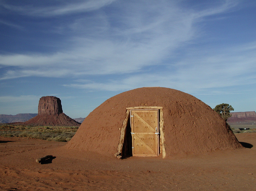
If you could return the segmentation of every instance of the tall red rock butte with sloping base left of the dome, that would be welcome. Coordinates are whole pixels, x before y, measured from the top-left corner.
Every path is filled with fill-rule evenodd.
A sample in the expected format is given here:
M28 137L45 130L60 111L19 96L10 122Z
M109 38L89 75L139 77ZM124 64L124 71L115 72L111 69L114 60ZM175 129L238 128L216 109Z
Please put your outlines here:
M63 113L60 98L44 96L38 103L38 115L24 122L23 125L80 126L80 123Z

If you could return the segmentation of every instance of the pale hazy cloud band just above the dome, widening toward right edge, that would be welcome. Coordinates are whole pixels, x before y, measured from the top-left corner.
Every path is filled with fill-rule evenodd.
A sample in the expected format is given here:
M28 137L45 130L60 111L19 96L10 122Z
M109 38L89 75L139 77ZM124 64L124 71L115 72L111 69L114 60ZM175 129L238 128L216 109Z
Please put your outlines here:
M170 87L190 93L200 91L217 94L216 88L256 84L255 50L243 52L248 46L233 47L233 51L220 50L218 54L186 58L170 65L162 72L147 72L133 74L122 80L108 80L105 82L78 81L78 83L64 86L103 91L123 91L139 87ZM253 47L253 46L252 46ZM211 91L210 91L211 89ZM220 94L223 92L219 91Z

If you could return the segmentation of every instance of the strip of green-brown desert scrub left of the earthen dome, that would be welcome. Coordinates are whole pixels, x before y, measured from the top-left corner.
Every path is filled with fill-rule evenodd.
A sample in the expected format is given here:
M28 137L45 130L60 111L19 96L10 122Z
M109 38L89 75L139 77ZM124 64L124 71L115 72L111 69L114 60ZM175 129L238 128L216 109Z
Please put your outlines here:
M69 141L76 133L78 127L64 126L12 126L1 125L0 136L29 137L47 141Z

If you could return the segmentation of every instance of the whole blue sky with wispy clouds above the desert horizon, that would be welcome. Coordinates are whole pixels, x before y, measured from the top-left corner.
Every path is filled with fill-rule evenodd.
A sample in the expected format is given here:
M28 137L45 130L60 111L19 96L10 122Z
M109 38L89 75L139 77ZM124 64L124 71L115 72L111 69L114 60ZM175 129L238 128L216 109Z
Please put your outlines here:
M0 114L84 118L140 87L256 111L254 0L1 0Z

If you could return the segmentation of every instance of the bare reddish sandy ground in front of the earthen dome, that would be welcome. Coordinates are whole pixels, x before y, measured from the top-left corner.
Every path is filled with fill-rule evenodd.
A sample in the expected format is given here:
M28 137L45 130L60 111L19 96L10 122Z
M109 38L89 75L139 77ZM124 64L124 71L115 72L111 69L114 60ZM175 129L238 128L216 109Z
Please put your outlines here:
M165 159L117 159L65 149L65 142L0 137L0 190L256 190L256 133L236 136L248 148ZM46 155L56 158L36 163Z

